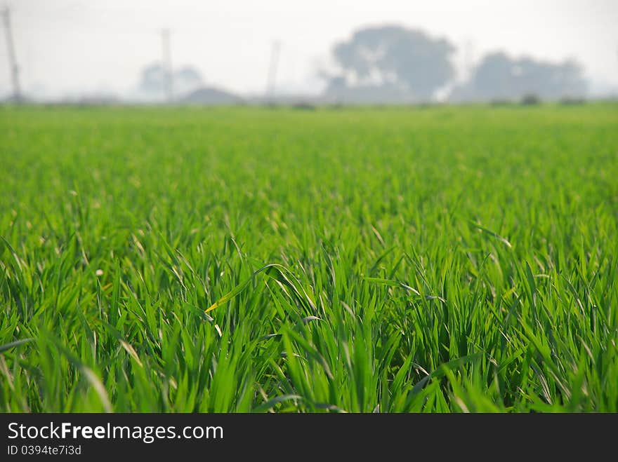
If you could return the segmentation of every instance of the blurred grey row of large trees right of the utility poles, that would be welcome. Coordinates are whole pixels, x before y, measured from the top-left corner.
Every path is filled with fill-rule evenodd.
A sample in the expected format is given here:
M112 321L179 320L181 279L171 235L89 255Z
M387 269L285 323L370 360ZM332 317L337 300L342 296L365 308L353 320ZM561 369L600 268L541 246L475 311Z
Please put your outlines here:
M449 100L557 100L586 92L582 67L572 60L546 62L503 52L482 57L467 81L456 82L456 47L419 29L396 25L365 27L336 43L336 69L322 72L327 97L364 102L433 100L442 91Z

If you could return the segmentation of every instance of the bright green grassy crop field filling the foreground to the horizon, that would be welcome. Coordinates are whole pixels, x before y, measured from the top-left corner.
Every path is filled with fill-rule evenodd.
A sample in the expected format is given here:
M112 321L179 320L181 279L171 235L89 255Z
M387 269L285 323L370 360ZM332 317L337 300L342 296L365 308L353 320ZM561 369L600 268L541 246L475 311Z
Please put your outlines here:
M0 133L0 411L618 412L616 104Z

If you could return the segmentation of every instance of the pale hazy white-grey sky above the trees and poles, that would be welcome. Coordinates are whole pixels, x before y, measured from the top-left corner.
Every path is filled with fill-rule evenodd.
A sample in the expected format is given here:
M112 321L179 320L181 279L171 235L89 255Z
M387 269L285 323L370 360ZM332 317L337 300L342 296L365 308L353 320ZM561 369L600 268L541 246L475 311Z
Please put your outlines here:
M272 42L282 44L277 86L316 90L329 50L363 25L395 23L444 36L478 60L503 49L548 60L573 57L590 79L618 86L618 0L8 0L26 92L52 95L136 86L171 29L175 66L207 83L263 92ZM0 37L0 93L10 88ZM469 62L470 60L468 60Z

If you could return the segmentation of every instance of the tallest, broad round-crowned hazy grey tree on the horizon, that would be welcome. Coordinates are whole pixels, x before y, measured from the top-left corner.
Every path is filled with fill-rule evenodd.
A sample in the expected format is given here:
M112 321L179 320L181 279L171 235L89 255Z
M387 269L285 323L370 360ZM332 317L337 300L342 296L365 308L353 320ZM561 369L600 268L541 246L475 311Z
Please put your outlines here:
M395 25L360 29L334 46L340 72L332 76L329 90L341 88L342 83L347 88L399 88L428 100L453 78L453 51L445 39L432 39L416 29Z

